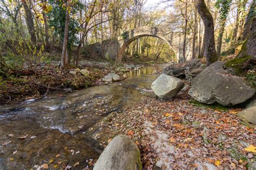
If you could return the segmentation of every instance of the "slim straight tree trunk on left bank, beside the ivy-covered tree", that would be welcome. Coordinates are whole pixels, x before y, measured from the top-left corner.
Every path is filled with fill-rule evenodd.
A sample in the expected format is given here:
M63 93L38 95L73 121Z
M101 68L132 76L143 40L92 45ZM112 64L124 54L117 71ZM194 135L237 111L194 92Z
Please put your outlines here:
M62 63L60 68L63 69L68 65L69 61L67 53L68 53L68 36L69 36L69 1L66 2L66 16L65 16L65 29L64 29L64 38L63 38L63 47L62 47Z

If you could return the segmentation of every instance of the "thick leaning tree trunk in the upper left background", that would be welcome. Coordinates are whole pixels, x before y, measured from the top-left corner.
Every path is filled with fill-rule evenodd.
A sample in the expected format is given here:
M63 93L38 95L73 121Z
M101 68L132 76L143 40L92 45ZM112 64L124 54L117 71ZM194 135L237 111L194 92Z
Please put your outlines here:
M28 4L26 4L26 0L23 0L22 4L23 4L25 14L26 14L26 25L28 26L28 29L29 29L31 41L33 43L36 43L36 30L35 30L35 26L33 23L32 12L29 9Z

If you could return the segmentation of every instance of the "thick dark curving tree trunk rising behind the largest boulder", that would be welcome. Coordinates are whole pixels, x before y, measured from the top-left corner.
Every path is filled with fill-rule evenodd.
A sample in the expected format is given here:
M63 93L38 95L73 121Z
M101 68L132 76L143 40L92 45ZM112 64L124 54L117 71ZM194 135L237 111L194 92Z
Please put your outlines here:
M214 23L213 18L208 10L204 0L197 0L196 7L200 17L203 19L205 34L204 34L204 55L206 57L206 65L209 66L211 63L217 61L217 54L215 51L214 41Z

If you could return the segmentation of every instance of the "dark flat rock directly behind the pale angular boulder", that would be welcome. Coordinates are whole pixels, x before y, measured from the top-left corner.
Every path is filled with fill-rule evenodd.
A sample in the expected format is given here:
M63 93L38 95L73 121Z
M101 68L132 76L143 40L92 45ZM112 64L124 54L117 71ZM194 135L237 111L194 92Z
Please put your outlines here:
M177 65L170 65L163 70L163 73L174 77L185 77L186 70L199 68L202 64L200 59L192 59Z

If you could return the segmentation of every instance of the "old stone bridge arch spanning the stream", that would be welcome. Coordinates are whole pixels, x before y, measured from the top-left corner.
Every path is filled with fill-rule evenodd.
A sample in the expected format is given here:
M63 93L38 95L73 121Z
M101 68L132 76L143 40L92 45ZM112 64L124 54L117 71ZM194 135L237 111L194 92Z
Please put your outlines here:
M169 43L169 41L167 41L163 30L159 29L158 27L143 26L131 31L126 31L118 37L120 48L118 49L116 62L122 61L122 56L125 53L125 49L131 44L132 41L142 37L156 37L163 40L174 51L177 61L179 60L177 50L175 50L174 47Z

